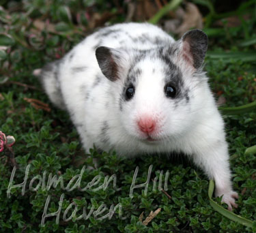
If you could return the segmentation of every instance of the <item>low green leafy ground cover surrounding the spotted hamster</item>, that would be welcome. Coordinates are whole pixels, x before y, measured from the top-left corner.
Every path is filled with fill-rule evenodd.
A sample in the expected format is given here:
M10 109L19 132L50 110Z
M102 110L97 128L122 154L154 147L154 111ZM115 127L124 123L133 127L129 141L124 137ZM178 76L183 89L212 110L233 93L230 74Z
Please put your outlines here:
M255 1L236 2L236 9L221 13L218 1L192 2L201 7L209 35L205 70L226 123L233 187L239 193L233 213L251 226L212 208L208 178L184 155L126 159L91 149L88 157L68 114L49 102L33 76L34 69L61 58L93 29L88 12L109 12L108 24L124 22L125 2L1 0L0 131L16 142L0 153L0 232L256 232ZM240 24L230 27L229 16ZM222 27L214 26L217 20ZM233 109L245 104L250 105ZM91 170L93 158L100 166ZM146 183L149 174L150 179L147 193L137 187L131 196L137 167L135 185ZM62 180L50 184L49 176ZM159 190L165 181L168 190ZM213 200L221 204L221 198Z

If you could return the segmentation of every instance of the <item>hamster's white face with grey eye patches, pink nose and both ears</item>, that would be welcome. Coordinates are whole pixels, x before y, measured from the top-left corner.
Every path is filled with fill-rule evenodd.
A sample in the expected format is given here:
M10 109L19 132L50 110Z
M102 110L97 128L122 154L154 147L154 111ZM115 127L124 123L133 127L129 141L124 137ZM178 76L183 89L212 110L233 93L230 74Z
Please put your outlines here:
M124 134L158 144L182 137L195 125L208 87L202 72L207 46L207 35L195 29L165 48L97 48Z

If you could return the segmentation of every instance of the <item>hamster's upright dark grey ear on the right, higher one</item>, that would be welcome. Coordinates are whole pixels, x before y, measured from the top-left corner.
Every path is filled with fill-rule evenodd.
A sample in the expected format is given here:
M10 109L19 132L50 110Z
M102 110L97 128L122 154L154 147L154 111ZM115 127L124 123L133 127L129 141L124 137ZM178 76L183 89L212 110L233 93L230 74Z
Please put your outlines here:
M182 57L198 69L203 64L208 47L208 36L199 29L187 31L181 38Z

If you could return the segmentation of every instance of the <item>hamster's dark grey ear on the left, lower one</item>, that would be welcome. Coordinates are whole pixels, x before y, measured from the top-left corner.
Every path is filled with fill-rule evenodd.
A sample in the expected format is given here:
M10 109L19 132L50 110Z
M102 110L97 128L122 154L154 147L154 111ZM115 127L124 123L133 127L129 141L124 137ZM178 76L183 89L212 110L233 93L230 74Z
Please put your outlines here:
M119 74L122 71L122 63L124 55L121 51L100 46L96 49L96 59L102 71L102 74L106 76L112 82L120 78Z

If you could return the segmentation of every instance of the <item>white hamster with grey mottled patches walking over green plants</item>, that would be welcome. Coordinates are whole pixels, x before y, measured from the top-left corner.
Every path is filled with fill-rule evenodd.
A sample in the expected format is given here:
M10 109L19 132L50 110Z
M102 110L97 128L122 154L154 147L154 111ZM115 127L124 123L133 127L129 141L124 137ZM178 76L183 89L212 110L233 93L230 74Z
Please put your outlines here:
M229 210L231 185L224 123L203 72L208 37L180 40L148 23L124 23L89 35L40 80L53 104L69 112L85 151L117 155L182 152L216 184Z

